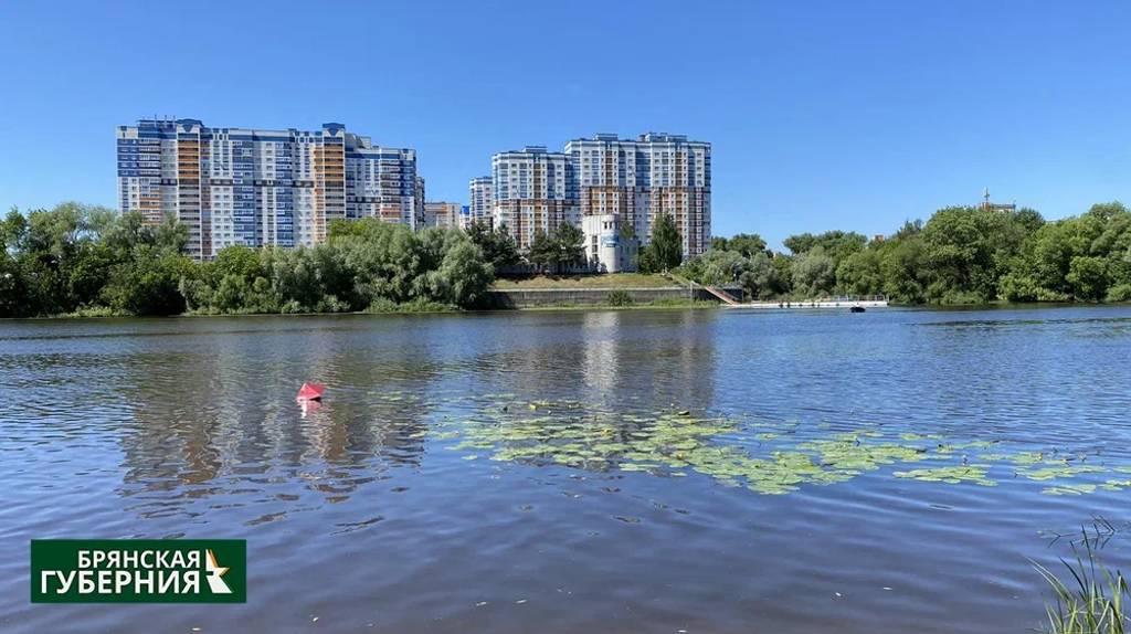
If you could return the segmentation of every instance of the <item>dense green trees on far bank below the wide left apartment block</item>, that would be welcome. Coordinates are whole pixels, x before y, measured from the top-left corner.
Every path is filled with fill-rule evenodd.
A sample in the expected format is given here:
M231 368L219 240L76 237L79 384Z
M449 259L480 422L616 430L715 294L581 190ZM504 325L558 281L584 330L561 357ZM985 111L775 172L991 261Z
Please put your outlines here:
M0 220L0 316L467 307L494 280L491 258L507 257L461 231L375 219L335 222L313 247L230 246L205 262L183 254L187 242L172 218L74 202L12 210Z

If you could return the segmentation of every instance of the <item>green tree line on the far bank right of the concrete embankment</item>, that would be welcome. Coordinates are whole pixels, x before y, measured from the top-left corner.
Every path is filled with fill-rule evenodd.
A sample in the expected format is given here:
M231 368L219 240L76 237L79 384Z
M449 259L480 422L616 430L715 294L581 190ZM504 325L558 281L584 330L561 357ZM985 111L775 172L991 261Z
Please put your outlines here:
M947 207L889 236L717 237L681 272L762 299L887 295L904 304L1131 301L1131 212L1119 202L1045 220L1033 209Z

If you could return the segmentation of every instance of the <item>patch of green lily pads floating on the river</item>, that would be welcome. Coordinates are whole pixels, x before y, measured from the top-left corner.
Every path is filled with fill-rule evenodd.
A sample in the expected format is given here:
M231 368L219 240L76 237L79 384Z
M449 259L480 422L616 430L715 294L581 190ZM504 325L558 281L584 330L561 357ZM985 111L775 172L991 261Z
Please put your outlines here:
M743 424L732 418L692 416L687 410L615 414L579 402L500 400L504 402L482 407L469 420L434 425L432 438L450 442L448 449L468 452L468 460L485 457L665 477L691 472L769 495L792 493L804 485L843 483L888 466L926 461L944 464L895 469L892 475L979 486L1024 478L1048 481L1043 490L1048 495L1131 487L1131 480L1116 478L1095 484L1071 481L1098 474L1126 474L1131 467L1107 468L1056 452L1007 452L996 441L948 442L940 434L897 436L873 427L834 433L828 426L810 427L805 436L795 422ZM986 452L991 448L999 451Z

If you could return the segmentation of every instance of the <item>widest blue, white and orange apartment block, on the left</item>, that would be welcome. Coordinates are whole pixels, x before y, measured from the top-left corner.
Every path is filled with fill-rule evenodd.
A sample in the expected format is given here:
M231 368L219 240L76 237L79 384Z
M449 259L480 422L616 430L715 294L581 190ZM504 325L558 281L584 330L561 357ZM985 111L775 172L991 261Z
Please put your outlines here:
M233 244L312 245L330 222L377 217L420 224L422 180L412 149L374 146L340 123L319 131L207 128L195 119L118 128L122 211L175 216L189 254Z

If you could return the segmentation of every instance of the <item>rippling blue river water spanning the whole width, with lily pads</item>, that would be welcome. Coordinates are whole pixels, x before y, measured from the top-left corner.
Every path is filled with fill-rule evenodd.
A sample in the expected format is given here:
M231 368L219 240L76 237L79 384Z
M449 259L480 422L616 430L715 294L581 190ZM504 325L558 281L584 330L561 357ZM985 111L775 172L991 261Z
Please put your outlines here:
M1129 353L1126 306L0 322L0 628L1022 632L1131 519ZM247 605L28 602L32 538L182 536Z

